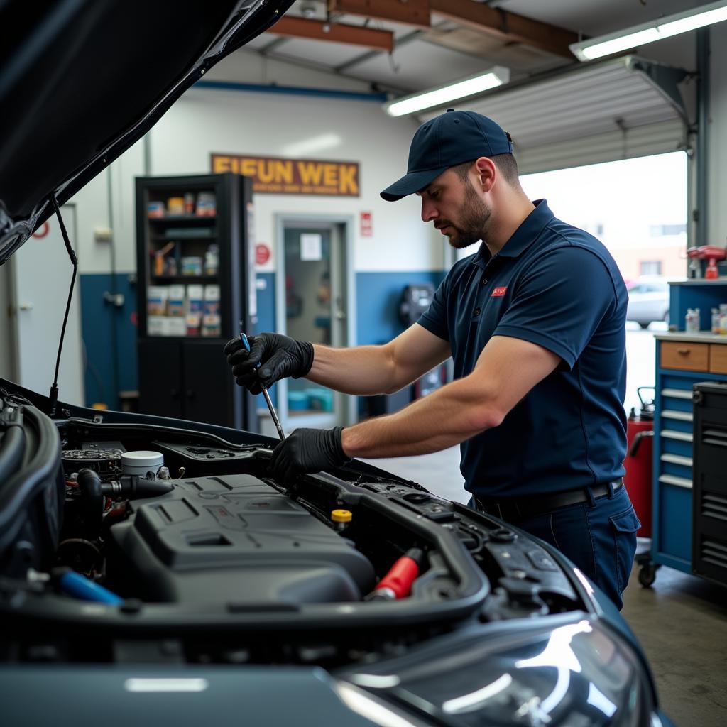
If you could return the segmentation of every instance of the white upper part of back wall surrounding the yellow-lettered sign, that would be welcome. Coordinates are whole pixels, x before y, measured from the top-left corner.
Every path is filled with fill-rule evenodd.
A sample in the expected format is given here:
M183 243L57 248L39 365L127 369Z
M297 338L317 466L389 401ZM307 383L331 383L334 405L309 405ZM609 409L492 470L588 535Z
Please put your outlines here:
M190 89L158 121L150 136L150 173L207 174L210 153L286 156L294 142L334 134L336 145L304 158L358 161L360 197L258 194L255 242L273 250L276 214L353 217L354 270L441 270L443 241L419 217L419 199L385 202L379 192L406 172L409 143L417 128L411 119L391 119L378 103L315 96ZM116 268L135 269L134 177L144 174L143 142L137 142L73 198L78 209L79 268L108 272L108 244L94 241L93 231L109 225L108 174L113 189ZM371 237L359 236L359 213L372 213ZM274 270L270 260L261 270Z

